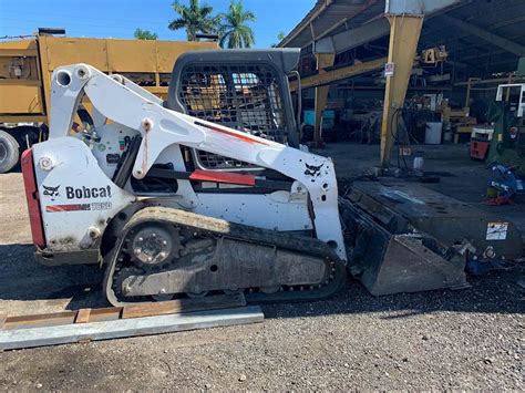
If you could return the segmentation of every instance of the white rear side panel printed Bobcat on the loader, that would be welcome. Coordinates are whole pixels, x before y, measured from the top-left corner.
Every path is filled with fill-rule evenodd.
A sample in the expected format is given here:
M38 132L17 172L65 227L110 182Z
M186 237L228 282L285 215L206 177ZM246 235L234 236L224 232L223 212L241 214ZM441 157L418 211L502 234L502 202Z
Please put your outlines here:
M91 248L97 236L90 230L102 234L107 219L135 200L104 175L82 141L61 137L39 143L33 146L33 156L51 161L47 169L39 161L34 166L50 250Z

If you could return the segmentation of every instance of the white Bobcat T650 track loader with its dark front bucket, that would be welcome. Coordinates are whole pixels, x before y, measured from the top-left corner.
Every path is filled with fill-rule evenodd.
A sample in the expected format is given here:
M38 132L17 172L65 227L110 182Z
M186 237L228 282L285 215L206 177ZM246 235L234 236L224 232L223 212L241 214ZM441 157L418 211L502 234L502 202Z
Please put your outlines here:
M389 186L339 198L332 161L300 148L287 79L298 59L187 52L165 102L87 64L56 69L49 139L22 157L38 260L100 263L114 306L321 299L347 270L374 294L465 287L465 250L481 255L485 239L428 235L418 223L434 195Z

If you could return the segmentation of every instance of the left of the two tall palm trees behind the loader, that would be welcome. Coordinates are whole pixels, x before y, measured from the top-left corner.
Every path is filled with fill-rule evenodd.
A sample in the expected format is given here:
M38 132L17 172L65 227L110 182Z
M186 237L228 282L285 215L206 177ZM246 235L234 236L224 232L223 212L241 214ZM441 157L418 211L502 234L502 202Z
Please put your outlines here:
M188 41L195 41L198 33L209 34L217 30L220 17L213 17L214 8L208 4L200 6L199 0L189 0L189 7L178 0L173 3L173 9L179 18L169 22L171 30L185 29Z

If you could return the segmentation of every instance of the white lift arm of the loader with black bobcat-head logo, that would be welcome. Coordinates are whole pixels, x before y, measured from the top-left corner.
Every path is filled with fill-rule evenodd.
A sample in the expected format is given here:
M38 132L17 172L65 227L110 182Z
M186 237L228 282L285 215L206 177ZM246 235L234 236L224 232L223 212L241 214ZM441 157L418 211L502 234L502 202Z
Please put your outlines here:
M347 259L330 158L171 111L130 80L105 75L86 64L63 66L53 72L50 141L71 135L73 116L84 95L97 115L135 130L142 136L132 169L134 178L143 179L159 155L173 145L274 169L295 180L291 195L308 193L317 238L329 244L339 258ZM177 166L175 170L185 170L182 159ZM195 195L188 197L189 206L196 203L192 198ZM265 215L264 206L258 214Z

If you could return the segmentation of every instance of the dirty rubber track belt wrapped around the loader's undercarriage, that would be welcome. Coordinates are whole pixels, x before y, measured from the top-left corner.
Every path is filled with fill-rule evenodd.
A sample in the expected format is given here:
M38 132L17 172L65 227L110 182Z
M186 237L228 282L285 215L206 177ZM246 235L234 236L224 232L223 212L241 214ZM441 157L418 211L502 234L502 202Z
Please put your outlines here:
M116 247L113 252L106 256L109 262L106 275L104 279L104 287L106 288L106 296L113 306L122 306L113 292L113 273L116 265L116 257L119 250L122 248L127 232L135 226L144 223L163 223L174 226L184 226L203 235L212 235L215 237L226 237L258 245L275 246L277 248L287 249L298 254L319 257L326 259L327 263L334 262L336 271L332 273L333 278L329 283L321 288L307 289L303 291L284 291L277 293L248 293L245 291L246 300L248 302L277 302L277 301L307 301L326 299L334 294L346 282L346 266L336 251L326 242L301 235L278 232L269 229L261 229L241 224L229 223L214 217L202 216L191 211L178 210L167 207L146 207L138 210L124 226L121 236L116 241ZM328 269L331 269L329 266ZM328 270L330 271L330 270Z

